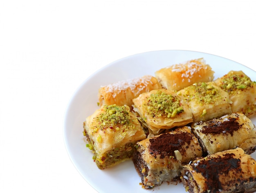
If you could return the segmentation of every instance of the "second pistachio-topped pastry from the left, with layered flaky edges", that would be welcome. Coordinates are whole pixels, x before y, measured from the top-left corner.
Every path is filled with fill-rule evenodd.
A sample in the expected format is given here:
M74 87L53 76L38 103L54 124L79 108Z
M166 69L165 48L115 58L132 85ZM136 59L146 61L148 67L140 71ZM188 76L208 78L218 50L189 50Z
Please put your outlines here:
M133 111L139 114L149 132L154 135L164 129L184 126L193 121L189 107L174 91L153 90L140 94L132 101Z

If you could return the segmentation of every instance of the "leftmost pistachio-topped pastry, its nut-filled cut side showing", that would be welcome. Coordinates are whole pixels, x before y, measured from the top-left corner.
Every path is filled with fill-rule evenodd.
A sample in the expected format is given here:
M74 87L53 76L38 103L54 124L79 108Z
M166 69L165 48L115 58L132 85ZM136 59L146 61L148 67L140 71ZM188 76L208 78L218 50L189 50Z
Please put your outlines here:
M99 169L131 159L134 144L146 138L136 116L128 106L103 105L83 123L86 146L92 150Z

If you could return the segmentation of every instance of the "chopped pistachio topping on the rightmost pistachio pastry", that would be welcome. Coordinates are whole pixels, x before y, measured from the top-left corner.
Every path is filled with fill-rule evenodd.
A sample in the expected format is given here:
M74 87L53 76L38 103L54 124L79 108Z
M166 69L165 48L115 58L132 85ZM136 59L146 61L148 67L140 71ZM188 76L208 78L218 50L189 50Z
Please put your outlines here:
M222 80L222 85L220 87L228 93L232 93L237 89L246 89L247 87L252 87L255 82L245 75L230 75L226 76Z

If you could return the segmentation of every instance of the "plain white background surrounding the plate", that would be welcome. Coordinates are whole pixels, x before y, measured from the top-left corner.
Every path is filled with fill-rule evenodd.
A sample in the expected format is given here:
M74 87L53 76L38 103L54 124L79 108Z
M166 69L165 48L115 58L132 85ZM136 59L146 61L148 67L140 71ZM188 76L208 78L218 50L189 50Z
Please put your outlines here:
M63 141L82 82L120 58L166 49L256 70L255 10L254 0L1 0L0 192L96 193Z

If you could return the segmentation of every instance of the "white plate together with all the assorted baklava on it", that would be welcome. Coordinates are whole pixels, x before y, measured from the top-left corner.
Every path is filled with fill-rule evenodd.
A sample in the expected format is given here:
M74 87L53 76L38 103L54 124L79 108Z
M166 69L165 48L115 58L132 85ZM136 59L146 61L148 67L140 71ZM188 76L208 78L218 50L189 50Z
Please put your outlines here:
M119 59L72 96L67 153L99 193L254 192L255 77L243 64L195 51Z

